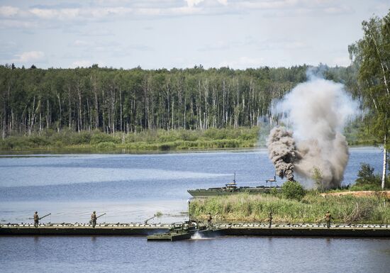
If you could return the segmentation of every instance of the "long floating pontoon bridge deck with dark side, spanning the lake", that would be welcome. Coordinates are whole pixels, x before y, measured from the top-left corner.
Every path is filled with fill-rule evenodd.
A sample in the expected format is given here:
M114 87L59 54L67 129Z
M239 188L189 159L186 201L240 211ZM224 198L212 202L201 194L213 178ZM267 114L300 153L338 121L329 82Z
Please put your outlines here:
M221 236L309 236L390 238L390 225L269 225L258 223L218 224ZM83 223L2 224L0 236L9 235L151 235L165 233L168 224L101 223L92 228Z

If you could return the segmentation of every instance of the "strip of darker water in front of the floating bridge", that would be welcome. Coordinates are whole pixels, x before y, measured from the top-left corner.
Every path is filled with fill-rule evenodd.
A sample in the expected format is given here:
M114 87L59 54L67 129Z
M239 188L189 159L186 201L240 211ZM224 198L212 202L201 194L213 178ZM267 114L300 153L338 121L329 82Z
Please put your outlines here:
M0 238L1 272L389 273L390 240L233 237Z

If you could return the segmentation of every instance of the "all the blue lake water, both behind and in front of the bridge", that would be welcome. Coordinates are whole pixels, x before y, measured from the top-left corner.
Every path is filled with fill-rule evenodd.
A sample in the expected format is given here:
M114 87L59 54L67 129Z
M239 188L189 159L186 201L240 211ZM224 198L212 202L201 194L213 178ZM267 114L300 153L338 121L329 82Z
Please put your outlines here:
M381 150L352 148L343 184L360 162L381 170ZM266 150L158 155L0 157L0 221L155 223L186 218L187 189L273 177ZM279 185L281 181L277 182ZM152 222L153 223L153 222ZM0 272L390 272L390 240L231 237L174 243L145 237L0 237Z

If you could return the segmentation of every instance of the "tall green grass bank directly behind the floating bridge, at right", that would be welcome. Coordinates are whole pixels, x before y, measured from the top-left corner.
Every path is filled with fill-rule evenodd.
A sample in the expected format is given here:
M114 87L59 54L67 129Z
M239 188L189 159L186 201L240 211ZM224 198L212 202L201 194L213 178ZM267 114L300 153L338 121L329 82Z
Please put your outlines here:
M301 201L269 194L216 196L191 202L191 216L205 220L210 212L220 222L318 223L330 211L335 223L390 223L389 200L370 196L319 196L306 194Z

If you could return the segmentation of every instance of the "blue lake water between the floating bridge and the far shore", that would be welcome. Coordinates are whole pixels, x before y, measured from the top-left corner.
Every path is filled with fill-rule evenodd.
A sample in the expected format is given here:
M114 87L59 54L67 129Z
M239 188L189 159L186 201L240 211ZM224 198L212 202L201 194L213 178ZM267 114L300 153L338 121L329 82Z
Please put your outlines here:
M343 184L353 183L361 162L381 170L381 150L352 148ZM274 176L267 150L191 152L153 155L23 155L0 157L0 221L26 223L33 211L45 221L89 221L91 211L106 213L101 222L181 221L187 189L264 185ZM279 179L279 185L282 183Z

